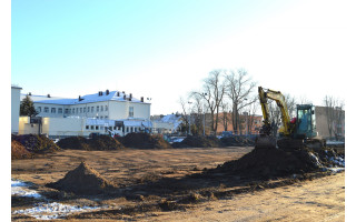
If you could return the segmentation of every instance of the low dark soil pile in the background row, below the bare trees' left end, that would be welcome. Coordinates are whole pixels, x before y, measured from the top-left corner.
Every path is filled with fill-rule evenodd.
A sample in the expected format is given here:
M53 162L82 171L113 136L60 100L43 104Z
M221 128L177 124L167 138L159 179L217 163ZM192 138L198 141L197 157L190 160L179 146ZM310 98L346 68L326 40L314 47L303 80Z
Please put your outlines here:
M172 143L174 148L218 148L221 147L216 137L188 135L181 142Z

